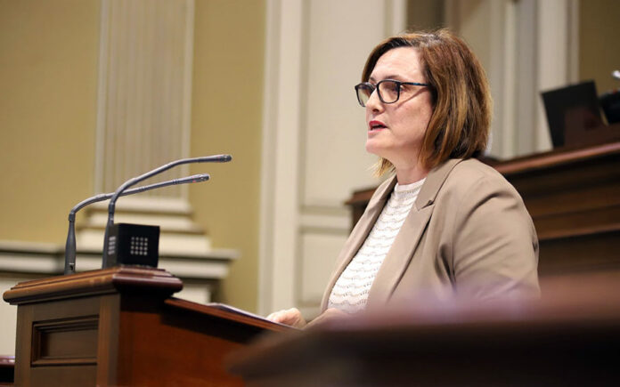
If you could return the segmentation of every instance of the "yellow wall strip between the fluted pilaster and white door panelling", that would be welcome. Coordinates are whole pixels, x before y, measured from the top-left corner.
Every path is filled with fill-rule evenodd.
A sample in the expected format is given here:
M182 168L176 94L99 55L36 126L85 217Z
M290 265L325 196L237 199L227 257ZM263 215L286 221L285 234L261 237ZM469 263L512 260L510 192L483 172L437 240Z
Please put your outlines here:
M224 302L256 310L265 4L197 1L195 12L192 156L231 153L233 160L208 165L211 181L192 186L190 202L216 247L241 252Z

